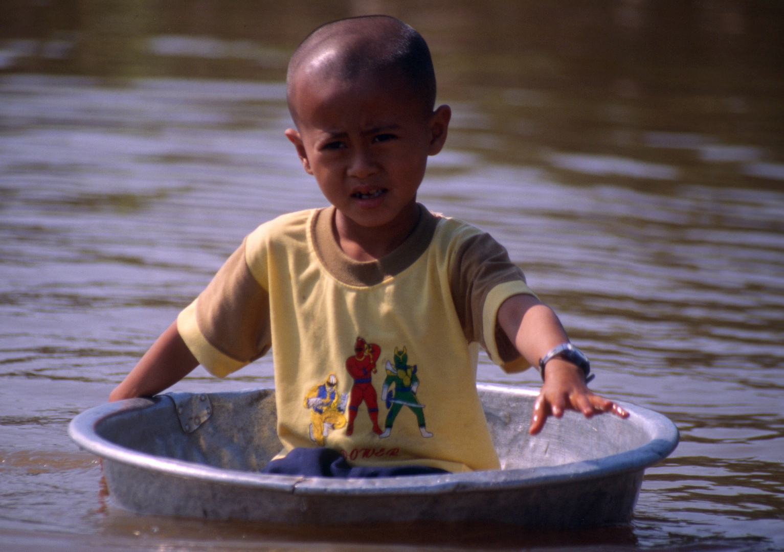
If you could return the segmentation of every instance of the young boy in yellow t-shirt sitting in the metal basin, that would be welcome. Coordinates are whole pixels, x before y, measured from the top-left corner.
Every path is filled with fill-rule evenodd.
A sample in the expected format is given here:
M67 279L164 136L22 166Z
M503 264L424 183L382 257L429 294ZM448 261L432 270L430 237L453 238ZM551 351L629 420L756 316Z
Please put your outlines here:
M154 395L198 363L223 377L272 348L281 456L295 449L298 466L280 471L304 474L298 463L323 463L318 446L371 468L360 475L498 468L480 346L508 371L542 361L532 435L564 409L628 415L588 390L586 359L506 250L416 202L451 116L434 109L416 31L388 16L328 23L299 45L287 85L285 135L332 207L247 236L110 400Z

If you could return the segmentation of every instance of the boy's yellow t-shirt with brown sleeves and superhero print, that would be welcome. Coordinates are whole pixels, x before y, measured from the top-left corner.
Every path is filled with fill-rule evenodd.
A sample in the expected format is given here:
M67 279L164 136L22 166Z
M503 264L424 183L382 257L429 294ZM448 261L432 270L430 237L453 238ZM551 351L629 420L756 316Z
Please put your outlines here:
M180 335L217 376L272 348L285 451L323 442L353 464L499 467L478 348L504 370L528 367L496 316L532 291L487 233L419 208L412 234L374 262L340 250L334 207L276 218L180 313Z

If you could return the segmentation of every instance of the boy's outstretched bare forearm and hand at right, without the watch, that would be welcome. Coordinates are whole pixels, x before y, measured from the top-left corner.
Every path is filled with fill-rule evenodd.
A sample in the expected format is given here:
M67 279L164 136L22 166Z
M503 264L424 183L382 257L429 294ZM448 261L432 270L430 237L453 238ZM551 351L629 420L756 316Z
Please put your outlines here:
M499 308L498 322L517 351L532 366L539 366L539 359L547 352L569 341L553 309L532 295L513 295L506 299ZM585 417L603 412L612 412L622 418L629 416L615 402L594 395L586 385L583 370L567 360L551 359L544 374L544 384L534 403L528 429L531 435L542 430L550 414L557 418L563 416L564 409L578 410Z

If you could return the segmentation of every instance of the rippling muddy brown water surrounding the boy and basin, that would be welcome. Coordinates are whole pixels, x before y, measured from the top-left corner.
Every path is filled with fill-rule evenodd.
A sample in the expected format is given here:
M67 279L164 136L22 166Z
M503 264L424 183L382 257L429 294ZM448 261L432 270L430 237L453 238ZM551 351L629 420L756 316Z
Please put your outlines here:
M114 4L17 3L0 27L2 550L784 548L778 4ZM454 113L419 199L506 245L593 388L681 431L630 525L137 516L67 438L246 233L325 204L282 134L282 70L315 24L371 4L423 31ZM539 384L486 360L479 379ZM175 389L271 384L264 358Z

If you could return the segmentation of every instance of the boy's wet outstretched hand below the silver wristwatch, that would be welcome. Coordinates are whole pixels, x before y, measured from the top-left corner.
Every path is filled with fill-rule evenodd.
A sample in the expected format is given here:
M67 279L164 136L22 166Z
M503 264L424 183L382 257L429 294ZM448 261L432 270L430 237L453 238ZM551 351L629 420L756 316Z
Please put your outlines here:
M609 399L604 399L586 386L583 370L563 359L552 359L545 369L545 380L539 396L534 402L531 427L528 433L536 435L542 431L547 417L560 418L565 409L582 412L586 418L593 414L612 412L626 418L629 413Z

